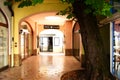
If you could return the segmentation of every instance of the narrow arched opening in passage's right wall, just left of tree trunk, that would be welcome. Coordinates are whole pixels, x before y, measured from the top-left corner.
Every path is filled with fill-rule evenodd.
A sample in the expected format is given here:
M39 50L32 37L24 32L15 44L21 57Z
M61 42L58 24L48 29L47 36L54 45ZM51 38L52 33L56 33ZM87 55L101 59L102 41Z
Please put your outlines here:
M76 22L74 27L73 27L73 56L81 60L81 56L84 53L83 52L83 45L82 45L82 37L80 34L80 26Z

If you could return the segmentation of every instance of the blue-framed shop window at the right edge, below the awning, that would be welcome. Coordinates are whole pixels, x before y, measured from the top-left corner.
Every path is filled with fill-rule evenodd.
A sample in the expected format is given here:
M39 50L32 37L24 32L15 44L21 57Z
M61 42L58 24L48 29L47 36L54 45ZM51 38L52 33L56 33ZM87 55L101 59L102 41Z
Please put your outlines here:
M120 20L113 23L111 31L112 74L120 79Z

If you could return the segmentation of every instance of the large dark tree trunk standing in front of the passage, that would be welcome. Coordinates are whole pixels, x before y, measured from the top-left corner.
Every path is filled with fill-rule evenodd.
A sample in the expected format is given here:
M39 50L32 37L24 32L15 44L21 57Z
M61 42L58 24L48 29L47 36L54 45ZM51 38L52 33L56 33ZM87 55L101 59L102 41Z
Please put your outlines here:
M109 58L105 54L96 17L85 14L84 0L73 3L73 13L80 25L83 47L85 50L85 80L114 80L110 74Z

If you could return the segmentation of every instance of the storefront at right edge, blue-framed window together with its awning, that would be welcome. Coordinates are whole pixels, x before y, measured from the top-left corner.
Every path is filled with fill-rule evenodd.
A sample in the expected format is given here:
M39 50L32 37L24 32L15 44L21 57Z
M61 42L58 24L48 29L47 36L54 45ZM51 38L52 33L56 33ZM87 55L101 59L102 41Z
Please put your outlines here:
M120 79L120 13L114 13L100 24L110 24L110 72Z

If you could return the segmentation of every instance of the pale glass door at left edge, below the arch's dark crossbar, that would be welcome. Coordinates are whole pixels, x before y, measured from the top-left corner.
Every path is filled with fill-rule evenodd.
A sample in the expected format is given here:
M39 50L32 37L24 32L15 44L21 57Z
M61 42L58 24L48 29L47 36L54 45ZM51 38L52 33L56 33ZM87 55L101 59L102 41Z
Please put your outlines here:
M0 26L0 68L8 65L8 29Z

